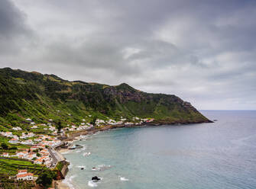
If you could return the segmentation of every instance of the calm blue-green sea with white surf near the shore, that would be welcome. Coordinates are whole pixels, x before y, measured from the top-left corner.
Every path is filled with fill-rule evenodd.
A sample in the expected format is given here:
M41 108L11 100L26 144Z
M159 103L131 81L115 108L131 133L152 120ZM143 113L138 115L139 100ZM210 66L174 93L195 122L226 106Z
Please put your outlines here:
M83 149L64 154L71 163L65 182L76 189L255 189L256 111L202 113L217 121L87 136L76 142Z

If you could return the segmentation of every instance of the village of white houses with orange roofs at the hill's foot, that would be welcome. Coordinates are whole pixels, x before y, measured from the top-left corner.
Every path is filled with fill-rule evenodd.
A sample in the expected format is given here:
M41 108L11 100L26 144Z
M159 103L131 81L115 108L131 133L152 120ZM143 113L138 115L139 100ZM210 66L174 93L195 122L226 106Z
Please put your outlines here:
M91 117L91 115L89 115ZM26 146L26 148L18 148L16 152L4 152L2 146L2 152L0 153L0 159L15 160L21 159L24 161L29 161L34 165L41 165L49 169L54 169L57 167L58 163L65 162L63 155L57 152L56 148L64 145L71 145L71 143L64 143L63 139L69 133L80 130L91 130L93 127L104 127L105 125L141 125L143 123L151 123L154 119L139 117L133 117L130 122L127 118L120 117L119 120L113 120L107 117L107 120L96 119L95 123L86 123L85 119L81 120L78 125L67 124L66 127L57 128L54 125L53 120L50 119L49 123L35 123L31 118L27 118L26 121L29 122L31 130L24 131L21 127L12 127L12 131L2 131L0 136L8 139L8 144L11 146ZM34 133L33 130L47 131L47 134ZM16 133L16 134L15 134ZM35 181L37 175L29 172L27 169L18 169L16 175L12 175L17 181Z

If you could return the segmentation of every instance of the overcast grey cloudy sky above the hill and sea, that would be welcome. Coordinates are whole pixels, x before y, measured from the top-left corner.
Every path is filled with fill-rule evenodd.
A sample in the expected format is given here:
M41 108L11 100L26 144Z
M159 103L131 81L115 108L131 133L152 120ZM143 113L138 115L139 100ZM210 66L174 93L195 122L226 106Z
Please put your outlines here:
M256 109L256 1L1 0L0 67Z

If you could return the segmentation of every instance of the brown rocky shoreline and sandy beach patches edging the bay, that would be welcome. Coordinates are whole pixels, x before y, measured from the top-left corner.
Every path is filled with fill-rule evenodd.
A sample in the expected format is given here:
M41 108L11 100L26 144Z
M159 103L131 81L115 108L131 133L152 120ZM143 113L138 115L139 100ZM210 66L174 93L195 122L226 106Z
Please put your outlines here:
M197 122L197 123L213 123L211 120L208 121L204 121L204 122ZM90 136L93 135L94 133L98 133L98 132L102 132L102 131L106 131L106 130L113 130L113 129L117 129L117 128L133 128L133 127L147 127L147 126L162 126L162 125L186 125L186 124L196 124L196 122L193 123L144 123L144 124L140 124L140 125L107 125L101 128L92 128L89 130L79 130L77 132L74 133L69 133L67 139L63 139L63 141L65 142L74 142L77 141L76 137L79 136ZM71 135L71 136L70 136ZM57 152L59 152L60 154L62 154L65 158L65 153L70 152L72 149L64 149L58 147L57 149L55 149ZM65 158L66 159L66 158ZM66 178L62 179L62 180L58 180L58 181L54 181L54 186L57 187L57 189L71 189L69 187L68 184L66 184L65 181Z

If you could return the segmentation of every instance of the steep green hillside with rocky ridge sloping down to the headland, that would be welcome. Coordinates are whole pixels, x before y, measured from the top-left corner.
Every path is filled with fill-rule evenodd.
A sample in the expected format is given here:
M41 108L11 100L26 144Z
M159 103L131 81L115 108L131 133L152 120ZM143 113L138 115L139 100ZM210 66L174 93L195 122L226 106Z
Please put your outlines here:
M0 130L28 129L49 119L62 124L125 117L155 119L155 123L209 122L199 111L175 95L150 94L123 83L117 86L69 82L57 75L0 69ZM43 132L43 131L42 131Z

